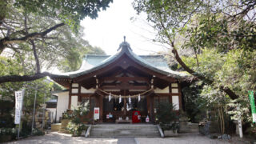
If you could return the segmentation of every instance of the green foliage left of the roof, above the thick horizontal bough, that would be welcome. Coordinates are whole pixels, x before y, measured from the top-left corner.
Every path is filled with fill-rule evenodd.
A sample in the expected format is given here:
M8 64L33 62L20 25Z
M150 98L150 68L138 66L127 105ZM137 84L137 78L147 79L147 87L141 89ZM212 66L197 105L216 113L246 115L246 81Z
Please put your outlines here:
M89 42L82 39L82 26L80 21L85 17L97 18L98 11L106 10L111 0L86 0L86 1L10 1L0 0L0 53L6 58L14 57L17 62L11 67L10 72L0 75L34 75L35 51L38 63L44 70L60 66L63 71L78 70L85 54L104 53L100 48L90 46ZM67 25L50 30L59 23ZM10 41L3 44L4 39L25 38L28 34L50 30L50 33L30 38L30 40ZM75 32L74 32L75 31ZM6 50L9 48L8 50ZM13 60L10 60L12 62ZM8 65L10 62L7 62ZM2 64L2 63L1 63ZM5 65L5 64L3 64ZM14 63L12 64L14 65ZM64 66L61 66L64 65ZM2 68L2 66L0 66ZM4 70L4 69L1 69ZM19 73L17 73L19 72Z

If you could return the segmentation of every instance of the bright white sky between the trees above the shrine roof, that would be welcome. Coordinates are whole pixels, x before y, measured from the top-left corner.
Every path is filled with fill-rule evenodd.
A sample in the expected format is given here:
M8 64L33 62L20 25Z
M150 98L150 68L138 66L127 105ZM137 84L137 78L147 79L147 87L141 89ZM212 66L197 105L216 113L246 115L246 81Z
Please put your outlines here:
M98 13L98 18L85 18L83 38L92 46L99 46L106 54L115 54L126 36L135 54L154 54L163 50L154 44L154 30L146 22L146 14L136 14L133 0L114 0L110 7ZM130 18L137 18L132 21Z

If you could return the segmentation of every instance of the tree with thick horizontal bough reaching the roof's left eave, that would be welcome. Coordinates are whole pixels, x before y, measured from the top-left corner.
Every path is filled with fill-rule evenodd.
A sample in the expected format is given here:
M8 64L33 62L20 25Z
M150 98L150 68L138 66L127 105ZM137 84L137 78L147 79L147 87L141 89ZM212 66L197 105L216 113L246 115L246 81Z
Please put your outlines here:
M4 75L0 77L0 83L32 81L50 76L48 72L41 72L41 65L53 64L56 60L60 60L55 55L65 56L65 51L68 51L66 49L70 49L60 41L62 32L73 30L69 33L69 37L75 38L74 35L78 33L79 22L82 18L87 16L97 18L98 11L106 10L110 2L112 0L40 2L1 0L0 7L5 13L0 15L0 31L2 32L0 54L6 48L11 49L7 51L20 54L23 58L22 62L30 59L28 54L34 55L35 72ZM28 51L29 53L26 54Z

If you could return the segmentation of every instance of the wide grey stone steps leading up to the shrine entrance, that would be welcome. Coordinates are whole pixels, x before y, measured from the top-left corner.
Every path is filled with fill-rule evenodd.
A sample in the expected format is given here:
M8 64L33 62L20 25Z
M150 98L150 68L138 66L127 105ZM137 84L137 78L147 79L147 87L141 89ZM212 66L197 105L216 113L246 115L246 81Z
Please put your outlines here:
M157 125L153 124L98 124L91 127L90 137L160 137Z

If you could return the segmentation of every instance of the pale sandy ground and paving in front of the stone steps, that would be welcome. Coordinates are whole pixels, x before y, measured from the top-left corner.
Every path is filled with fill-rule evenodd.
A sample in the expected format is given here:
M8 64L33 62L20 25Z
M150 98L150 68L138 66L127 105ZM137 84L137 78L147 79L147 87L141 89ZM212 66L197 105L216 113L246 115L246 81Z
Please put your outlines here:
M232 137L230 140L210 139L201 134L180 134L173 138L84 138L71 137L70 134L51 132L44 136L34 136L20 139L19 141L7 142L8 144L242 144L250 143L245 139Z

